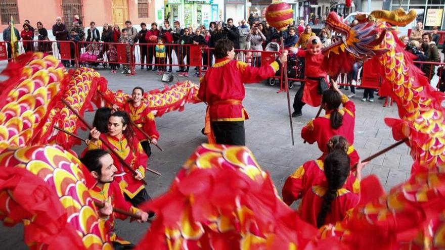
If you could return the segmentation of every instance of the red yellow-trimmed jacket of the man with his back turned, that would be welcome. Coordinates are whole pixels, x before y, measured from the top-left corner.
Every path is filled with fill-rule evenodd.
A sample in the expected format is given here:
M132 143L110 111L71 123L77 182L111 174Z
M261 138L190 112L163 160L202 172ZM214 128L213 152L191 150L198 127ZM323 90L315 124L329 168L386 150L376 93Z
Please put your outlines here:
M198 97L209 105L211 121L244 121L249 119L241 101L244 99L243 83L260 82L275 75L280 65L275 61L260 68L227 58L216 60L200 80ZM228 100L240 104L221 103Z

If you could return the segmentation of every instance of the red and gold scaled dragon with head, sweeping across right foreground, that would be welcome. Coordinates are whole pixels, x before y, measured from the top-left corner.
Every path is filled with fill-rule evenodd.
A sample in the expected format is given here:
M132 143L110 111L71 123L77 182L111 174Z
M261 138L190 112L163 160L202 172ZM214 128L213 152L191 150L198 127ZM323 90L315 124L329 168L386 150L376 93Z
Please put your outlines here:
M359 60L372 60L384 76L382 94L396 101L400 117L385 122L396 140L408 138L414 159L405 183L386 194L375 176L365 178L350 216L317 230L283 206L246 147L204 144L170 190L147 205L159 217L137 249L445 248L443 95L391 27L415 17L413 11L375 11L351 28L331 13L326 25L344 39L323 52L331 76Z

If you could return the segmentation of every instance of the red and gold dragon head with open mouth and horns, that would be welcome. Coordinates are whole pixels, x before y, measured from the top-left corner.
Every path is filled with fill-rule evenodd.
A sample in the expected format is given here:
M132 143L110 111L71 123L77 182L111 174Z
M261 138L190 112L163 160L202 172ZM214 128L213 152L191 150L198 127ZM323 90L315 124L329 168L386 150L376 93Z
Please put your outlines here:
M395 11L373 11L369 16L358 15L358 23L348 25L337 13L331 12L325 25L336 36L332 44L323 50L326 56L324 68L331 76L349 72L356 61L366 61L387 52L379 45L390 30L389 24L404 26L416 18L415 11L405 14L403 9ZM384 24L383 22L386 22Z

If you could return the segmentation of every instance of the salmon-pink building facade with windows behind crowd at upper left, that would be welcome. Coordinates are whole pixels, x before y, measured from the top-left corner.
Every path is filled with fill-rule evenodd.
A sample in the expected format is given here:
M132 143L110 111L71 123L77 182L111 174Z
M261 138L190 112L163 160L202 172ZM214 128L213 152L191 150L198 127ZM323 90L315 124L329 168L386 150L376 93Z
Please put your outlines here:
M158 20L155 1L152 0L1 0L0 32L14 18L15 27L20 31L25 20L36 27L38 21L51 30L56 17L62 17L68 29L72 27L74 15L79 15L84 27L94 21L101 28L104 23L123 27L126 20L139 26L141 22L151 23ZM160 16L163 20L163 16Z

